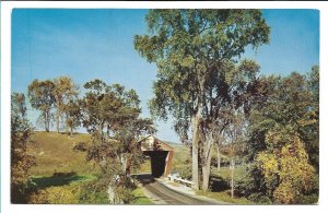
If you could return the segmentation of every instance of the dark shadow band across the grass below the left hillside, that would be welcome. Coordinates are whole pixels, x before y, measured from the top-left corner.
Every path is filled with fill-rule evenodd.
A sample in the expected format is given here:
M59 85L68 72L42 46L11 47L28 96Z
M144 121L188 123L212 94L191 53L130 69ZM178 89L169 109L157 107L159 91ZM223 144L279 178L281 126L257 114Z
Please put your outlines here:
M87 179L85 176L77 175L77 173L55 173L50 177L33 177L31 188L45 189L48 187L58 187L69 185L73 181Z

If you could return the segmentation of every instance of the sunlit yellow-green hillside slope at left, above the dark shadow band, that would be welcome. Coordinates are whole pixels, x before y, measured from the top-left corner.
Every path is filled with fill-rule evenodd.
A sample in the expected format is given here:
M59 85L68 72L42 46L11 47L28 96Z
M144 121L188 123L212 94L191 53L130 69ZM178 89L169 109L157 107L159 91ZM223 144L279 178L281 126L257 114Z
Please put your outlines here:
M78 142L91 143L89 134L69 137L56 132L35 132L32 137L32 152L36 166L32 167L33 176L51 176L54 173L95 174L92 163L85 162L85 153L73 151Z

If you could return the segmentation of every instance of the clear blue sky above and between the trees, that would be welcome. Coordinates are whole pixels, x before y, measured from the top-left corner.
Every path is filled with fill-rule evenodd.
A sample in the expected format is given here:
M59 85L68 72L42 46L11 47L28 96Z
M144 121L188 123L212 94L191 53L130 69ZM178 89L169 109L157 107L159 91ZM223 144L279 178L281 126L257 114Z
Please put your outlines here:
M134 88L143 116L152 97L156 67L133 49L133 36L145 34L147 10L15 9L12 13L13 92L27 93L34 79L68 75L80 85L93 79ZM305 73L319 64L319 12L316 10L263 10L271 26L271 42L244 57L261 66L262 74ZM82 91L83 92L83 91ZM31 109L31 107L30 107ZM36 123L38 113L28 110ZM157 137L178 142L167 123L157 121Z

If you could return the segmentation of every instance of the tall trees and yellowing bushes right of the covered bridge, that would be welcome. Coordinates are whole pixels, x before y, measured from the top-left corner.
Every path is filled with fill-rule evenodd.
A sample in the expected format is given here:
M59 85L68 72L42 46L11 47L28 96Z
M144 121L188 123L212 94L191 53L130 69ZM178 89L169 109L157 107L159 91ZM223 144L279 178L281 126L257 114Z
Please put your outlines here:
M317 192L318 68L259 76L256 61L241 60L246 47L269 43L260 10L150 10L145 21L150 33L136 35L134 48L157 66L151 113L173 116L191 144L195 188L209 189L215 143L220 152L223 142L244 142L255 186L246 193L292 203Z

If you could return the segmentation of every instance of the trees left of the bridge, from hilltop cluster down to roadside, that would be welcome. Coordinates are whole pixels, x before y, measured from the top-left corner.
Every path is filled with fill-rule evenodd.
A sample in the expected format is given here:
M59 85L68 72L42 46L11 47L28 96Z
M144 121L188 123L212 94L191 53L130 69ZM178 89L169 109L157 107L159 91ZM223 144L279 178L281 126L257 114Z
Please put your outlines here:
M60 121L72 133L83 126L92 135L86 161L94 162L102 170L102 187L114 190L113 202L129 202L132 189L130 171L143 161L138 141L142 135L154 133L153 121L141 118L138 94L119 84L107 85L101 80L84 84L84 97L79 97L78 86L70 78L34 80L28 86L32 107L40 111L46 131L51 118L57 132ZM130 187L129 187L130 186ZM120 191L120 192L118 192Z

